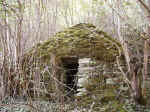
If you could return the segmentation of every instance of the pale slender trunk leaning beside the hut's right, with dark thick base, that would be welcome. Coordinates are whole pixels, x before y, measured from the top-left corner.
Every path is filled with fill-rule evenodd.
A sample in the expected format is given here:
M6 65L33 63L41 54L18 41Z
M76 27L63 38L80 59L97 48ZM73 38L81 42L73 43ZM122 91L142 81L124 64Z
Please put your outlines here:
M120 2L118 1L118 9L120 9ZM123 39L120 33L120 18L118 16L118 37L123 47L123 52L125 56L125 60L127 63L127 70L129 77L126 74L126 77L130 80L131 86L131 96L134 98L135 102L139 104L145 104L143 94L142 94L142 84L143 84L143 77L142 77L142 62L135 56L130 50L128 43Z

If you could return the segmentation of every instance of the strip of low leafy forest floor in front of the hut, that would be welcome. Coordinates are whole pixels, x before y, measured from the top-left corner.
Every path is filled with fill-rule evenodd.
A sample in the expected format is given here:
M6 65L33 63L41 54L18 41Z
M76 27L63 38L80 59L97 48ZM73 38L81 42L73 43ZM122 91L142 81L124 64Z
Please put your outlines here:
M142 105L137 105L131 102L123 104L122 110L114 108L113 104L103 105L103 107L89 106L89 108L80 108L78 102L70 102L69 104L61 105L59 103L47 101L32 101L32 102L8 102L0 104L0 112L150 112L150 108ZM112 106L111 106L112 105ZM122 104L120 104L122 105ZM109 106L109 107L108 107Z

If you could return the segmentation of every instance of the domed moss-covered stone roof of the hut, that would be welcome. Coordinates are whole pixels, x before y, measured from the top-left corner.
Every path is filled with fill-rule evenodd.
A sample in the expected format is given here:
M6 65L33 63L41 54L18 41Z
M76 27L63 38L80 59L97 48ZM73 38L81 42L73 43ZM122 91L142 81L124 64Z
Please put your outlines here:
M116 59L117 47L121 48L117 40L98 30L92 24L81 23L37 44L28 52L28 55L34 54L38 58L49 58L53 53L57 57L94 57L107 62Z

